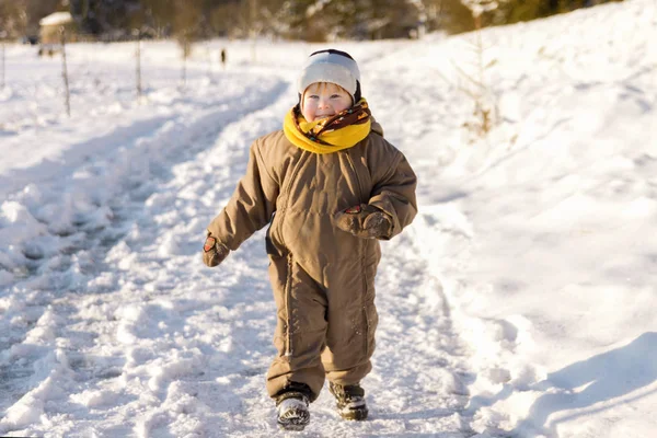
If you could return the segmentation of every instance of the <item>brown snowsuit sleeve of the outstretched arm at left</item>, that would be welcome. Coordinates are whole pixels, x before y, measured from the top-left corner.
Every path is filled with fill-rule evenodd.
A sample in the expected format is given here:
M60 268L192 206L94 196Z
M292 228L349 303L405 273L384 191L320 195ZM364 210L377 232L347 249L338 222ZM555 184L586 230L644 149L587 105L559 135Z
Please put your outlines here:
M226 207L208 226L208 231L231 251L269 223L276 211L279 184L263 160L262 145L258 139L251 147L246 174Z

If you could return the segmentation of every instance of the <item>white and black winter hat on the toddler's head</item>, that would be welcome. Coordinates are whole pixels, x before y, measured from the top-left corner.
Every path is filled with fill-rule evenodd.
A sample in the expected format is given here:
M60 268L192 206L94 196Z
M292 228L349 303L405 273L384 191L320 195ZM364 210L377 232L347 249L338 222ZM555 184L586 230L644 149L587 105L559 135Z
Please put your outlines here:
M299 76L299 95L315 82L335 83L351 95L354 103L360 100L360 70L346 51L327 49L310 55Z

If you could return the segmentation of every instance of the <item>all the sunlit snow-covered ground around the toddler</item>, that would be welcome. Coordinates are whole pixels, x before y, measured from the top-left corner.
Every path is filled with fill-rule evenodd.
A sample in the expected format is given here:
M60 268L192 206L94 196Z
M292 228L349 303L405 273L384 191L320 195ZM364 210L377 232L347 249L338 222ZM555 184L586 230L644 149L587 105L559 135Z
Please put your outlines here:
M657 430L657 9L483 32L500 123L463 128L475 35L344 43L419 215L383 244L371 419L327 391L308 437L650 437ZM221 47L228 66L218 64ZM208 221L325 46L7 47L0 90L0 435L269 437L263 233L220 267Z

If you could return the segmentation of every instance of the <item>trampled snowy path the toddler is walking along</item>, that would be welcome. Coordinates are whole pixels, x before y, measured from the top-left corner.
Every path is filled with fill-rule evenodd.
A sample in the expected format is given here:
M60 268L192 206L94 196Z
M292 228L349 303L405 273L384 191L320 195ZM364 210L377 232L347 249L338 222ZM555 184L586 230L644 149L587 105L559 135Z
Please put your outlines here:
M73 172L77 178L58 180L70 206L62 224L44 224L57 241L45 247L66 255L28 255L32 268L13 289L38 293L13 298L3 308L16 318L2 320L10 336L2 338L8 348L2 348L0 381L12 395L0 406L8 410L0 431L278 433L264 391L275 353L275 308L263 234L217 269L204 267L198 252L205 224L243 173L250 141L277 129L289 106L288 84L267 87L244 93L247 97L235 95L240 105L228 101L220 110L172 118L148 138L134 129L139 147L83 164ZM235 107L242 110L231 113ZM119 170L107 172L117 162ZM101 192L90 187L119 177L128 181L122 189L93 199ZM30 205L25 196L16 197L22 203L16 208ZM80 207L89 197L92 207ZM68 217L78 218L72 229ZM468 402L464 349L417 242L411 231L384 247L378 350L365 382L371 420L341 422L324 391L303 435L473 435L458 414ZM44 414L49 420L39 425Z

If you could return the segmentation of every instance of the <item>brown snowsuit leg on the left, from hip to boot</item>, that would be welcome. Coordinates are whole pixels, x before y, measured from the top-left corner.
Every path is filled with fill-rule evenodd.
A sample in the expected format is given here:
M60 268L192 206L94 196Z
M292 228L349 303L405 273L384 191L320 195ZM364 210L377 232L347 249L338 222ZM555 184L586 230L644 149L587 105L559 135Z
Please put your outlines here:
M324 385L321 354L326 345L326 292L295 263L291 254L270 255L269 277L277 308L267 392L276 396L290 382L310 387L314 401Z

